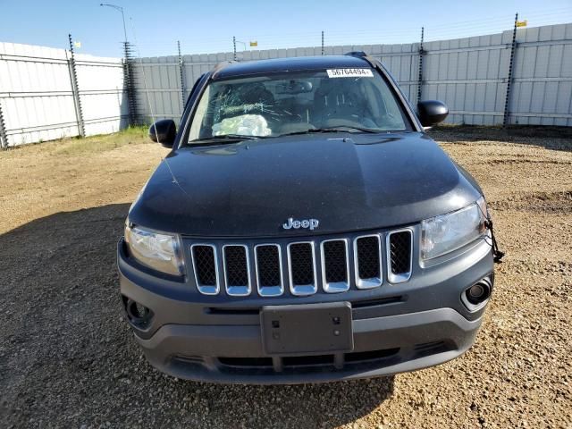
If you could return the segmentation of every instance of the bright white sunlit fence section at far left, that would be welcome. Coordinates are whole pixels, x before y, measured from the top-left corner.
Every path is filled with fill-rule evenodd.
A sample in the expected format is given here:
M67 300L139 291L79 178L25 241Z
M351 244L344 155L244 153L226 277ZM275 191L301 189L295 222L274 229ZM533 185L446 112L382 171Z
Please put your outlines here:
M122 59L74 60L77 88L69 51L0 43L0 135L10 146L78 136L81 127L94 135L127 125Z

